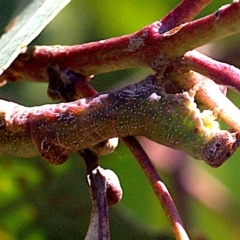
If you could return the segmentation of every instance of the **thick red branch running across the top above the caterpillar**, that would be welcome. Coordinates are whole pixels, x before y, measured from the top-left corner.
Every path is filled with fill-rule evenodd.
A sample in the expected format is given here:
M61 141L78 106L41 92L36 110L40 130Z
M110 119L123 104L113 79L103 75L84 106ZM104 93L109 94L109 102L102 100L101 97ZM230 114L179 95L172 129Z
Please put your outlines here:
M178 10L181 12L181 8ZM189 14L185 20L193 15ZM85 76L132 67L160 70L188 50L239 32L239 16L240 2L235 1L214 14L184 23L167 32L164 32L163 23L157 21L136 33L99 42L76 46L28 47L3 73L0 81L47 81L49 64ZM181 23L177 16L175 18L176 23ZM169 19L171 14L163 19L167 30L175 26L174 22L170 24Z

